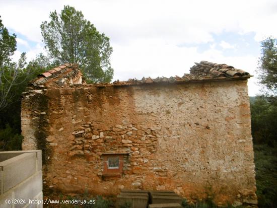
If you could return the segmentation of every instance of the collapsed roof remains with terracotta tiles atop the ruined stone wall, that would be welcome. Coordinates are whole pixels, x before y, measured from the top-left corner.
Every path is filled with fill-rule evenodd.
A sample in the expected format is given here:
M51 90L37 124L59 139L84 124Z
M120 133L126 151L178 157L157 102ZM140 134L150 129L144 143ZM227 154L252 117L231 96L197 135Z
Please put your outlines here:
M78 64L64 63L40 74L31 85L38 87L50 86L76 86L87 85L82 77L82 73ZM250 74L239 70L231 65L225 63L218 64L209 61L195 62L190 68L190 74L184 74L182 77L158 77L155 79L143 77L141 80L129 79L128 81L115 81L113 83L96 83L90 86L104 87L104 86L124 86L124 85L140 85L148 83L182 83L182 82L199 82L199 81L217 81L217 80L234 80L234 79L248 79Z

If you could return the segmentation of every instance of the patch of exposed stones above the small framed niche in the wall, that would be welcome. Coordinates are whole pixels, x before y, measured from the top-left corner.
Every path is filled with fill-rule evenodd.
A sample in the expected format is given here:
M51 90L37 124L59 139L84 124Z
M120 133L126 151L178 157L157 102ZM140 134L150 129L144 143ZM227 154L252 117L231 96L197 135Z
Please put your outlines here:
M82 124L72 133L75 138L72 142L73 146L70 148L71 156L84 155L84 152L112 153L122 150L131 153L136 158L142 158L143 156L139 155L149 155L157 151L157 137L160 136L157 129L152 130L136 126L137 129L132 124L124 126L118 124L105 131L97 127L97 124L89 122Z

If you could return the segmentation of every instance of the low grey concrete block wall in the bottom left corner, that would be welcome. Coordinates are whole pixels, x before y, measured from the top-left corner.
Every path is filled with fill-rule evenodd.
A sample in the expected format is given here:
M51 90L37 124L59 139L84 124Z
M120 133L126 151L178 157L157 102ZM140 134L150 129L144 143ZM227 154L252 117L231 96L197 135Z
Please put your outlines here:
M42 207L41 150L0 152L0 207Z

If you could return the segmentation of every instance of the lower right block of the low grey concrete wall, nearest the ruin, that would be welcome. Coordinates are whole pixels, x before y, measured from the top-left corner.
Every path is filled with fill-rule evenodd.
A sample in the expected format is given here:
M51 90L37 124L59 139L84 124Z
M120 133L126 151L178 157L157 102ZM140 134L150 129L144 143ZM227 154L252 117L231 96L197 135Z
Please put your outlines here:
M29 203L29 199L34 199L41 191L42 172L39 171L16 186L14 189L14 196L15 198L26 199L26 202Z

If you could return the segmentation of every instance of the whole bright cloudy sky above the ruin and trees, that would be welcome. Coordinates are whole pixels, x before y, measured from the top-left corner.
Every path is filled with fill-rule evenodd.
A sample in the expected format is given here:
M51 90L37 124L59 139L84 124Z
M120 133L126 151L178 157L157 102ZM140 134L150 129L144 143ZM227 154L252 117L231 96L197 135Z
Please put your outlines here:
M40 24L64 5L83 12L113 47L114 80L182 76L194 62L226 63L254 75L260 41L277 36L277 1L0 0L0 15L17 35L17 52L28 60L43 52ZM44 52L45 53L45 52Z

